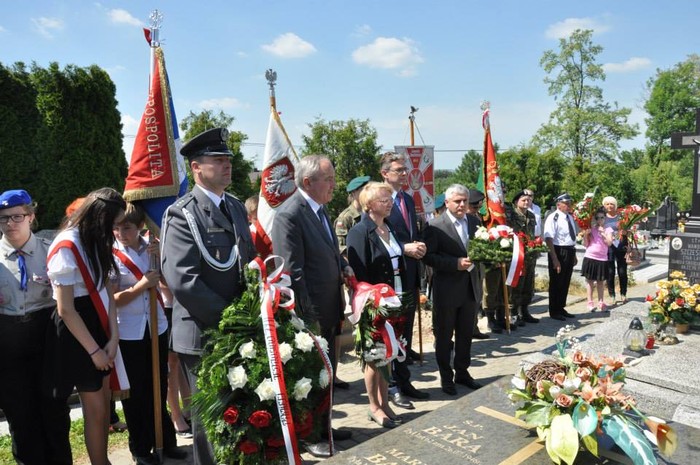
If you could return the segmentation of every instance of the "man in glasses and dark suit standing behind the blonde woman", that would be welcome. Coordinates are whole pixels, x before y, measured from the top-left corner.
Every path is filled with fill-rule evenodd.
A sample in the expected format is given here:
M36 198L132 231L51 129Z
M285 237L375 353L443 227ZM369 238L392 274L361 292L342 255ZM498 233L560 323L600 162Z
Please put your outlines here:
M413 339L413 321L418 308L418 291L420 289L420 263L425 255L425 244L422 242L418 231L418 217L413 198L403 191L408 178L406 157L394 152L382 155L380 169L384 182L389 184L394 191L394 205L387 220L396 232L396 239L401 243L406 262L406 280L403 292L412 294L413 308L407 309L406 325L403 336L406 338L407 359L392 362L393 386L389 388L389 400L397 407L413 409L411 401L404 396L414 399L427 399L427 392L419 391L411 384L411 372L408 370L408 360L417 360L418 354L411 349ZM398 389L397 389L398 388Z

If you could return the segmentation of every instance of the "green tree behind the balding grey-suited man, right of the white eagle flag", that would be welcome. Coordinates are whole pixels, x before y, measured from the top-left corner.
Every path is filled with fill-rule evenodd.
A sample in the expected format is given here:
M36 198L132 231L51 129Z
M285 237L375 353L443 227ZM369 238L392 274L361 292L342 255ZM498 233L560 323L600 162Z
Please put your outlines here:
M326 155L335 167L336 189L327 205L335 218L347 205L346 187L357 176L379 179L377 130L369 120L326 121L316 118L309 124L310 135L302 135L302 155Z

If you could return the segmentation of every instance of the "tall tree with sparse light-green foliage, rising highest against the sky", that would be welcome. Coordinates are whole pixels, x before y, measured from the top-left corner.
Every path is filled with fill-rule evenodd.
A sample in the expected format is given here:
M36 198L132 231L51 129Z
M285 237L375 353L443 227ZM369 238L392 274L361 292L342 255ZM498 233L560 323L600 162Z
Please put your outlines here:
M569 38L559 40L558 51L547 50L540 60L547 73L547 90L558 105L535 141L572 159L574 175L591 166L584 161L614 159L619 141L638 133L637 126L627 122L631 110L618 108L617 102L605 102L602 89L595 85L605 80L605 72L596 62L603 48L593 44L592 34L577 29Z

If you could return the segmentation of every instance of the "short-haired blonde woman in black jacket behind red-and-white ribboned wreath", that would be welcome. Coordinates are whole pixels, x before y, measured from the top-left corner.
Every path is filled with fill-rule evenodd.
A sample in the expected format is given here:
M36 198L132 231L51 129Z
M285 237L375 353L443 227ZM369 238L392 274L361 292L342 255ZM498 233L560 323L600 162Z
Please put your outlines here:
M391 187L379 182L368 183L360 192L360 206L365 214L348 232L347 252L358 281L388 284L400 294L405 270L403 253L391 226L385 221L391 213L391 194ZM395 428L401 420L389 407L387 380L370 362L365 364L364 375L369 398L368 418L384 428Z

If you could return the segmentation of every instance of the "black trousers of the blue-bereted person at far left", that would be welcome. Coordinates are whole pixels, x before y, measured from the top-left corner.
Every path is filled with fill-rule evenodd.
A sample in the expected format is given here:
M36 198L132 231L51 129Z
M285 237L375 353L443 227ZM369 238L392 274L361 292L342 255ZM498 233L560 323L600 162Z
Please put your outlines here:
M44 350L53 308L25 318L0 315L0 409L12 454L24 465L70 465L67 399L46 395Z

